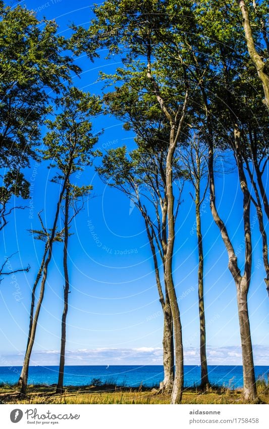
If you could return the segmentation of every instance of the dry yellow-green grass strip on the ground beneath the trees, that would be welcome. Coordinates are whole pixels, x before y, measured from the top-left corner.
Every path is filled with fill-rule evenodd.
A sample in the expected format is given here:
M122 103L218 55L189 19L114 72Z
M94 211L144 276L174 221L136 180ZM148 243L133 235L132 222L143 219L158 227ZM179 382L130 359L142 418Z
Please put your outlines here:
M55 394L55 386L29 385L27 396L19 397L16 385L0 385L0 402L5 404L169 404L170 396L155 388L140 386L128 388L115 384L100 384L92 380L91 386L66 386L62 395ZM269 404L269 384L264 378L257 380L258 396ZM241 389L210 386L201 391L199 386L184 389L183 404L244 404Z

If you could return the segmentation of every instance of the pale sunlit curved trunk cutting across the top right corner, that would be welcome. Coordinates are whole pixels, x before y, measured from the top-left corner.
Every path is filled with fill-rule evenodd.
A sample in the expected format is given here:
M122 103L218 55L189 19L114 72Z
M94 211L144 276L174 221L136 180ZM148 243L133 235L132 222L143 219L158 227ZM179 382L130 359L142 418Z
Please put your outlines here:
M251 25L249 21L249 13L248 9L245 5L244 0L238 0L239 8L241 9L242 17L243 17L243 27L247 42L247 49L249 56L256 67L258 77L262 83L263 92L264 92L264 100L263 103L269 111L269 76L266 73L265 63L262 61L261 57L256 51Z

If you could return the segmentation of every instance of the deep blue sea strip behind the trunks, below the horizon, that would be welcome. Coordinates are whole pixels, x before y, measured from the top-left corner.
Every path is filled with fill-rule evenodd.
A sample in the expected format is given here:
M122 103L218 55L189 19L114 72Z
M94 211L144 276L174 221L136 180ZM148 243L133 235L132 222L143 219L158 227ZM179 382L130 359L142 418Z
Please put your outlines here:
M58 366L30 366L29 384L53 385L58 380ZM21 366L1 366L0 383L15 384L18 381ZM209 382L213 385L235 389L243 386L242 366L208 366ZM255 366L256 378L269 376L269 366ZM164 378L164 369L160 365L91 365L66 366L65 386L87 386L115 384L118 386L154 387ZM184 366L184 386L195 386L200 383L200 367Z

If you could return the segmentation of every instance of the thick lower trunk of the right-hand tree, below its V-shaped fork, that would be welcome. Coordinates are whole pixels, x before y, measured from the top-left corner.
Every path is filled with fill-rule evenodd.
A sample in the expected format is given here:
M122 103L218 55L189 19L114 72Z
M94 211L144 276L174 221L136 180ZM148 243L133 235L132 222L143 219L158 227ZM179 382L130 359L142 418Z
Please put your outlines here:
M257 391L247 307L247 289L246 279L242 277L241 281L237 282L237 304L243 361L243 396L246 401L255 402L257 401Z

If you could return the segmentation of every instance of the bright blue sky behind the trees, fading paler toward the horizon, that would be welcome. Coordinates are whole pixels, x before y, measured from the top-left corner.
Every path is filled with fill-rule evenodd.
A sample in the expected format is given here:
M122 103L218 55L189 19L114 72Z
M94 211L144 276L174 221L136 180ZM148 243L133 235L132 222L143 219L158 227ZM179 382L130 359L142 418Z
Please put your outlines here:
M65 34L70 22L86 25L89 4L80 0L26 1L41 18L56 18ZM46 6L47 5L47 6ZM74 83L92 93L101 90L98 71L113 72L117 61L90 63L77 60L81 78ZM104 129L96 147L101 150L127 145L133 134L123 130L113 117L100 117L93 129ZM26 346L31 287L42 257L42 244L27 229L38 227L37 212L51 226L59 188L50 183L52 172L46 165L31 166L26 176L33 185L33 215L29 209L16 211L5 228L2 255L19 251L11 260L17 268L31 265L29 273L17 273L1 283L0 344L1 365L23 362ZM93 168L76 178L77 184L93 184L94 198L76 218L70 239L70 279L72 283L67 329L67 364L160 364L162 363L163 318L158 302L150 248L143 219L118 190L105 186ZM236 186L237 184L237 186ZM185 363L199 362L199 319L197 300L197 249L194 205L185 185L184 202L177 220L174 275L183 324ZM236 172L219 174L217 200L220 214L232 236L239 263L243 264L242 194ZM29 203L29 202L28 202ZM255 364L268 364L268 298L263 281L261 240L255 212L253 224L253 276L249 291L249 312ZM208 198L202 213L205 250L205 316L209 364L241 364L236 290L227 268L227 253L219 230L213 223ZM40 313L31 364L57 364L63 309L62 248L56 244L50 265L45 297ZM1 363L2 362L2 363Z

